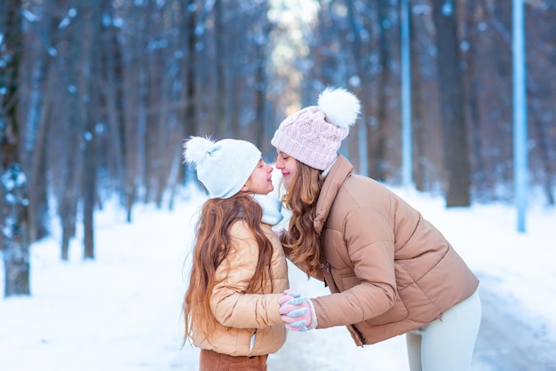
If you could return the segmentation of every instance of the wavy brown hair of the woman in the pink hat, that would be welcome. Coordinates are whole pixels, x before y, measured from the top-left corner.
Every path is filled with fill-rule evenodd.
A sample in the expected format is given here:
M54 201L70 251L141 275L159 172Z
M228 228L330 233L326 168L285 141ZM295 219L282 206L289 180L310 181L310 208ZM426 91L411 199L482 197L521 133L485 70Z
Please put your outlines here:
M324 183L321 170L298 162L298 171L282 201L290 209L290 228L283 246L291 249L290 260L308 275L317 272L321 259L320 235L313 226L316 202Z

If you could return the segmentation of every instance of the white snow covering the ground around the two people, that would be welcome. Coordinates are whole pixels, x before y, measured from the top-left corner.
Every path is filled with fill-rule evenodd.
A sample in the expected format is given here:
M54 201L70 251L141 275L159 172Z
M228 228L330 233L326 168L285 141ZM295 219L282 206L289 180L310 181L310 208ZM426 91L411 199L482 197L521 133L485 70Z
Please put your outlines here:
M531 205L527 233L516 232L511 205L445 209L439 197L394 189L431 220L504 308L556 341L556 210ZM182 348L181 301L195 211L204 196L188 189L173 211L141 205L134 221L112 204L96 215L96 259L83 261L80 239L60 261L60 233L31 249L32 296L0 299L3 371L195 370L198 350ZM4 272L0 264L0 271ZM0 283L0 291L4 292ZM290 286L327 294L290 265ZM552 294L549 294L552 293ZM512 309L514 308L515 309ZM519 312L518 312L519 311ZM356 347L346 328L290 333L269 356L269 370L407 370L405 338ZM473 370L490 366L473 361ZM496 368L494 368L496 369Z

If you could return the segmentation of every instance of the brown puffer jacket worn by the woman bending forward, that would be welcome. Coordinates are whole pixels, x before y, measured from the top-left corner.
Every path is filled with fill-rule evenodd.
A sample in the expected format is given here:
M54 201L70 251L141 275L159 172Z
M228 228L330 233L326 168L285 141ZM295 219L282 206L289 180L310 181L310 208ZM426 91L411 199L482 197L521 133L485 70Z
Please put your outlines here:
M479 280L416 209L343 156L328 174L314 228L332 293L314 299L319 328L346 325L357 345L420 328L471 296Z

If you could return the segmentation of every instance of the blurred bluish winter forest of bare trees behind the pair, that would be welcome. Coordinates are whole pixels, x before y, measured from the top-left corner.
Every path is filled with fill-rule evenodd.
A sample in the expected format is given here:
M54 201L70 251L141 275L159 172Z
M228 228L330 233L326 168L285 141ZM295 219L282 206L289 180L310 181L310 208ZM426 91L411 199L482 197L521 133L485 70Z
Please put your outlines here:
M525 0L528 183L554 205L556 2ZM510 202L512 2L410 0L412 181L447 207ZM361 99L341 151L401 183L399 0L0 0L4 296L29 295L29 248L60 220L60 258L118 200L173 208L190 135L268 161L278 124L327 86ZM529 195L530 196L530 195Z

